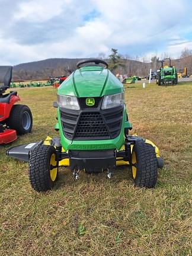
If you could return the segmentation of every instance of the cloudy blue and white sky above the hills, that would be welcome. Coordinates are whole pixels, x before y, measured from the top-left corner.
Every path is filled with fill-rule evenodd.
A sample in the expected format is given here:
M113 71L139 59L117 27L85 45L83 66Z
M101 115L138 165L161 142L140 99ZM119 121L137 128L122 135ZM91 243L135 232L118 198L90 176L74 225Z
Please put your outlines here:
M0 0L0 65L192 49L191 0Z

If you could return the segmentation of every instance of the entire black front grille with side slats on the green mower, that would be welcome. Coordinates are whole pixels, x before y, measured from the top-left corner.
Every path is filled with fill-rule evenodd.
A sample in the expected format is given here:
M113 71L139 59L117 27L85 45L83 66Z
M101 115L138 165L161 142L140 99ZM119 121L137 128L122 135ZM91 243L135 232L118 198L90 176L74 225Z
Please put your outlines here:
M121 130L123 105L108 110L60 110L63 133L67 139L114 139Z

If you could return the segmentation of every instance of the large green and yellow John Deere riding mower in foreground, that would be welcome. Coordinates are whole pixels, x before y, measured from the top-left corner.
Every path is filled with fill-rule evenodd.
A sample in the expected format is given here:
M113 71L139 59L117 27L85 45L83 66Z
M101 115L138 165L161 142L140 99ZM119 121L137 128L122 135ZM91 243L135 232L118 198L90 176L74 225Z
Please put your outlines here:
M7 155L29 162L30 184L37 191L53 187L62 165L75 180L82 171L111 178L116 165L130 165L136 186L154 187L163 162L150 140L129 135L123 84L104 60L85 60L77 68L57 89L53 104L60 137L8 149Z

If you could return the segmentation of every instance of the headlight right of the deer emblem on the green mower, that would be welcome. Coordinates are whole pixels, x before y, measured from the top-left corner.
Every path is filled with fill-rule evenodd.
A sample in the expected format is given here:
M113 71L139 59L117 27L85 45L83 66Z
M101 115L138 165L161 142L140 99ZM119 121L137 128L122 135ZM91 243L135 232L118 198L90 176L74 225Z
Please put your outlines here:
M124 92L120 94L105 95L103 99L102 109L117 107L124 103Z

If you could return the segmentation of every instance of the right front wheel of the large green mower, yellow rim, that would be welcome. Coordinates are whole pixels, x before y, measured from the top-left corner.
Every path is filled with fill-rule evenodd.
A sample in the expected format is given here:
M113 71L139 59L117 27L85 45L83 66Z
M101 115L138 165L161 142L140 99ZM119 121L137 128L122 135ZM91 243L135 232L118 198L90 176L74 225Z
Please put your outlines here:
M136 172L134 172L135 168ZM155 187L158 162L152 145L145 142L137 142L133 146L131 169L136 187Z

